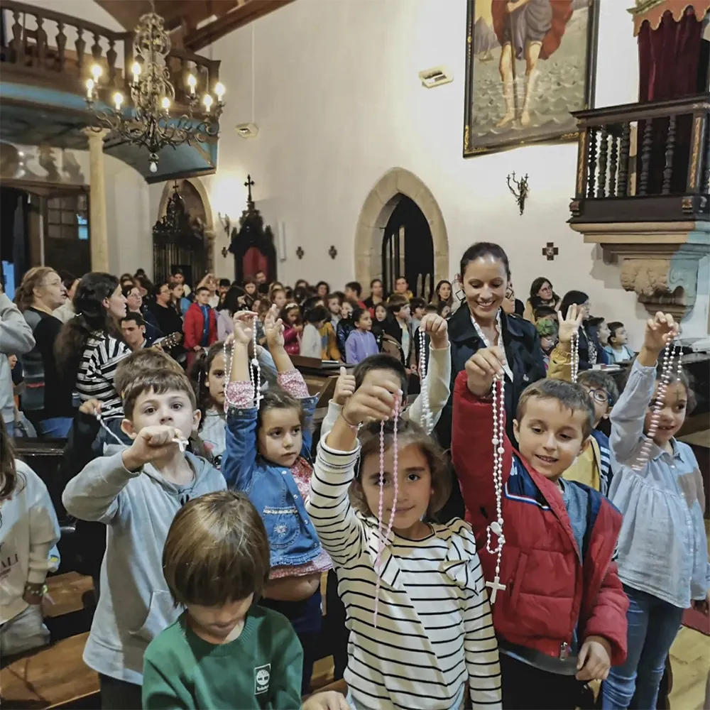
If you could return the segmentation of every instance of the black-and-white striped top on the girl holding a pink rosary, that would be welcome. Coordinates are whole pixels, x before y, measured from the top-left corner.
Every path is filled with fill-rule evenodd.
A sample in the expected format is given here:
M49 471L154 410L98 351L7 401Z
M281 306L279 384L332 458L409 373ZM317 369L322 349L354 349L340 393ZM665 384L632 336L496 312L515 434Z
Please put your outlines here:
M375 626L377 520L351 507L358 451L318 446L306 509L338 574L350 631L345 680L356 707L501 707L491 608L471 528L454 518L408 540L391 533L381 555Z

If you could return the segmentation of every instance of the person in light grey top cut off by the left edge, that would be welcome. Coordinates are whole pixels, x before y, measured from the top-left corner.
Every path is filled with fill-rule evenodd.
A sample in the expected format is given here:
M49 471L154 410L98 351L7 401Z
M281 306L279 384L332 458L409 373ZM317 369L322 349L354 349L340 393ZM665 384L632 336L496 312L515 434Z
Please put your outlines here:
M28 353L34 346L31 327L0 281L0 415L10 436L15 433L15 398L9 357Z

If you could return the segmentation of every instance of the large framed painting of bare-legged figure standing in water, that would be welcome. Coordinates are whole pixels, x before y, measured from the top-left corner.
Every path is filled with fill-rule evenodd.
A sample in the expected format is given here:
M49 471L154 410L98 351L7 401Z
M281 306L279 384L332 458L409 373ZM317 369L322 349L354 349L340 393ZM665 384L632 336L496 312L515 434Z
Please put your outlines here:
M464 158L576 140L598 27L599 0L467 0Z

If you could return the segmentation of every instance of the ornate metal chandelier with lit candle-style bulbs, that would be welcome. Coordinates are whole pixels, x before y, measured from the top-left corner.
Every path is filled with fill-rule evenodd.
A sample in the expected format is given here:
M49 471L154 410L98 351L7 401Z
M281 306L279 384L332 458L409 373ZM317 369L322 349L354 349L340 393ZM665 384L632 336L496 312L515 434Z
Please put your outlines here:
M187 114L171 116L170 108L175 103L175 87L170 82L170 71L165 59L170 53L170 36L165 31L163 18L155 13L151 0L151 12L141 16L133 37L133 80L130 87L130 103L124 105L124 95L117 91L111 97L113 104L106 111L97 109L98 91L102 67L94 64L92 78L87 80L87 106L100 124L111 129L116 136L136 146L144 146L150 152L151 173L158 172L158 153L166 146L177 148L182 143L197 143L219 135L219 116L224 104L224 84L217 82L206 86L202 99L197 92L198 77L187 75L189 96ZM124 72L128 67L124 67ZM211 90L210 90L211 89ZM217 97L215 102L212 93Z

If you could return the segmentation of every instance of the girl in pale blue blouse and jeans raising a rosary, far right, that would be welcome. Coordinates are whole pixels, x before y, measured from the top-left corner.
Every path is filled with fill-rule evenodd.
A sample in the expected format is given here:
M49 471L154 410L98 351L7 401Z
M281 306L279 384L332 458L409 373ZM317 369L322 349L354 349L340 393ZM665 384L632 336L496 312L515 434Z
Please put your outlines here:
M660 354L677 334L671 315L648 321L638 357L611 411L614 478L611 502L623 513L618 575L629 599L628 655L602 685L605 710L655 708L658 686L683 612L707 608L710 564L703 525L704 493L692 449L675 439L692 391L675 371L665 391L648 460L634 468L657 401Z

